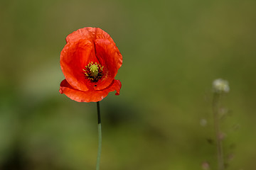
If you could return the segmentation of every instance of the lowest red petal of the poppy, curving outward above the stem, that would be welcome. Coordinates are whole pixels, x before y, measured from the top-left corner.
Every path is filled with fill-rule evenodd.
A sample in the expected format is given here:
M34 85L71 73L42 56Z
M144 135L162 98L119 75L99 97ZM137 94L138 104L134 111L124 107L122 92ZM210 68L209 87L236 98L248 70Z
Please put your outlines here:
M64 79L60 83L60 94L65 94L72 100L78 102L97 102L105 98L111 91L117 91L116 95L119 95L121 86L121 82L114 79L110 86L101 91L79 91L78 89L74 89L73 86L70 86L68 81Z

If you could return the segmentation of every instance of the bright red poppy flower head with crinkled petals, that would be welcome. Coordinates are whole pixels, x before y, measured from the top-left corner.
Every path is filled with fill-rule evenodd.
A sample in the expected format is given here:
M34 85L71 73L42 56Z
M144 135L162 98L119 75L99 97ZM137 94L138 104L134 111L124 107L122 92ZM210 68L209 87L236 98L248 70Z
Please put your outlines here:
M60 94L74 101L97 102L110 93L119 95L121 82L114 79L122 65L122 55L114 41L100 28L81 28L68 35L60 53L65 79Z

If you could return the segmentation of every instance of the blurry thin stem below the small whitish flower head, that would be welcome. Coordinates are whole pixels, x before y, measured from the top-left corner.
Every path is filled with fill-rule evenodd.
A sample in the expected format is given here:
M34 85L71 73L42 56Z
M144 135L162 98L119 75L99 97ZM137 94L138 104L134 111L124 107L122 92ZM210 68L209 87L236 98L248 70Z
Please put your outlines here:
M214 129L215 129L215 139L218 150L218 170L224 169L223 162L223 147L220 139L220 123L219 123L219 100L220 94L214 94L213 96L213 117L214 117Z

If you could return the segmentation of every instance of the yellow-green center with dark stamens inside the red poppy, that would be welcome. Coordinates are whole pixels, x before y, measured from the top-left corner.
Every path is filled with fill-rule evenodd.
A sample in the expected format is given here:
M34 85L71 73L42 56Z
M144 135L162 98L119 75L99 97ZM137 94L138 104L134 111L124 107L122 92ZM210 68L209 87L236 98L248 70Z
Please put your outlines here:
M103 66L97 64L97 62L90 62L89 64L87 64L87 66L85 66L85 69L82 70L85 72L85 77L87 77L87 79L90 79L90 81L92 82L97 82L99 79L102 78L103 75Z

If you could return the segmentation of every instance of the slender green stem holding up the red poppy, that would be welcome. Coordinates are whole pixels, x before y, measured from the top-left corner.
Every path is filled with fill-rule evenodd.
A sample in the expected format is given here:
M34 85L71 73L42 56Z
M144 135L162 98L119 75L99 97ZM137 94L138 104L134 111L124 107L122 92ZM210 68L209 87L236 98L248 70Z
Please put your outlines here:
M100 119L100 101L97 101L97 119L98 119L98 152L97 152L97 164L96 170L100 170L100 154L102 148L102 128Z

